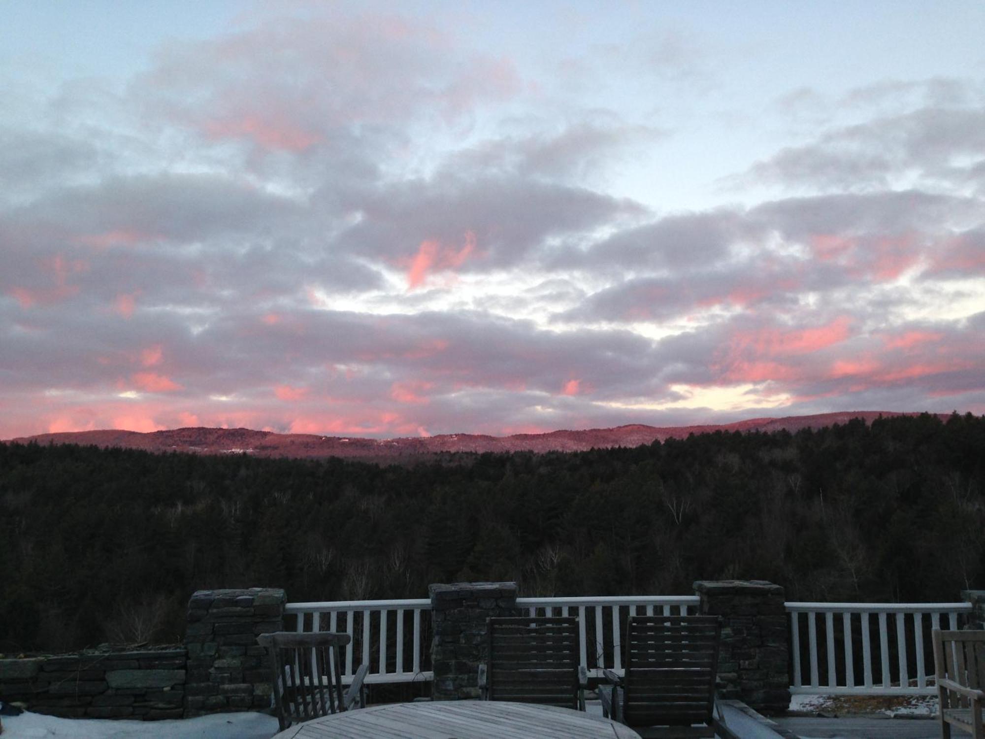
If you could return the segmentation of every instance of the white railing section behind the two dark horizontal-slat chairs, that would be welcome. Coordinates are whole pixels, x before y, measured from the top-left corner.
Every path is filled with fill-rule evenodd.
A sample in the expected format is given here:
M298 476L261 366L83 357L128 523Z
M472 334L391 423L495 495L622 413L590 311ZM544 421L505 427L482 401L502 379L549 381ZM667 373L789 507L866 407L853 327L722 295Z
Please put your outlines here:
M577 616L581 664L589 676L603 669L623 674L622 629L629 616L687 616L697 612L696 595L628 595L585 598L517 598L530 616ZM587 635L591 627L592 641Z

